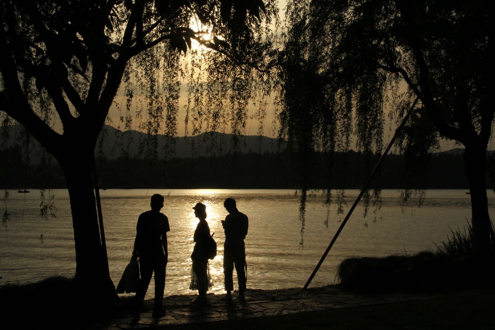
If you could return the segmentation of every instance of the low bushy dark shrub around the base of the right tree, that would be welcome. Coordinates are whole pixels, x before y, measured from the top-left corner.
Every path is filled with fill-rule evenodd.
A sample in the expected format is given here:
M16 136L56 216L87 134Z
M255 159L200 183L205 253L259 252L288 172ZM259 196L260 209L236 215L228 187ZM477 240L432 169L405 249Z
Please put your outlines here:
M347 258L338 266L337 277L348 288L371 291L493 286L494 235L492 254L480 259L472 254L469 224L464 233L450 231L452 236L435 252Z

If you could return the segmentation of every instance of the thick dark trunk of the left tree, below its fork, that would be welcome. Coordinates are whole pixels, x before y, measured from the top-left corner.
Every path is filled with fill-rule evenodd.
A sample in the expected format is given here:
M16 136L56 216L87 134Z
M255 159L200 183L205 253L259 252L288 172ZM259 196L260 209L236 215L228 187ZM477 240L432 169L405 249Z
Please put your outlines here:
M93 154L74 146L71 149L75 151L64 155L60 165L69 190L76 247L76 282L82 290L91 292L93 299L111 299L115 296L115 286L100 241L91 170Z

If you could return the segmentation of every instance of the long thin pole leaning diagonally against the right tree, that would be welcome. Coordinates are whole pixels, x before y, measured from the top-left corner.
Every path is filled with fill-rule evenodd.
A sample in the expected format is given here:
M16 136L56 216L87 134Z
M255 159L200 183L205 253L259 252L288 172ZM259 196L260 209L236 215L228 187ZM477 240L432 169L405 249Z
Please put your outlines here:
M313 280L314 276L316 275L316 272L318 272L318 269L320 268L321 264L323 263L323 260L325 260L325 258L327 257L327 254L328 252L330 251L330 249L332 248L332 246L334 245L335 241L337 240L337 237L339 237L339 234L342 232L342 230L344 229L344 226L346 226L346 223L347 223L347 220L349 220L350 218L350 215L352 214L352 211L354 211L354 209L356 208L357 204L359 203L359 200L361 199L361 197L363 196L364 194L364 191L366 191L366 189L368 189L368 186L371 182L371 180L373 179L373 177L375 176L376 172L378 171L378 168L380 168L380 165L382 164L383 160L385 159L385 156L387 155L387 153L389 153L390 151L390 148L392 147L392 145L394 144L394 142L396 141L396 137L397 137L397 133L400 132L400 130L402 129L402 127L404 127L405 125L405 122L407 121L407 119L409 119L409 116L411 115L411 112L412 110L414 109L414 107L416 106L416 103L418 102L418 99L419 97L416 97L416 99L414 100L414 102L412 103L412 106L411 108L409 109L409 111L407 111L406 115L404 116L404 119L402 119L402 123L400 123L400 126L397 127L396 129L396 133L394 134L394 137L392 138L392 140L390 141L389 145L387 146L387 149L385 150L385 152L383 153L382 157L380 157L380 160L378 161L378 163L376 164L375 168L373 169L373 172L371 172L368 180L366 181L366 183L364 184L364 187L363 189L361 189L361 191L359 192L359 195L357 196L356 200L354 201L354 204L352 204L349 212L347 212L347 216L346 218L344 219L344 221L342 222L342 224L340 225L339 227L339 230L337 231L337 233L335 233L335 236L334 238L332 238L332 241L330 242L330 244L328 245L325 253L323 253L323 256L321 257L320 261L318 262L318 265L316 265L316 268L314 269L313 273L311 274L311 276L309 277L308 281L306 282L306 284L304 285L304 287L302 288L303 290L307 289L307 287L309 286L309 283L311 283L311 281Z

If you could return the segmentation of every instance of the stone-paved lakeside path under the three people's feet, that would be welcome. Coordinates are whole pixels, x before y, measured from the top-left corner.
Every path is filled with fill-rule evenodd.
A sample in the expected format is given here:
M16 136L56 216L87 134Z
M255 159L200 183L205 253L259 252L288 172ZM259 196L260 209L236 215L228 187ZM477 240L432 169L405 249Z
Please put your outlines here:
M167 314L161 318L151 318L152 300L150 300L144 306L144 309L149 311L141 313L141 319L139 321L133 320L130 314L123 315L119 318L109 320L99 328L102 330L125 330L160 326L169 327L186 323L263 317L466 294L468 294L466 291L413 294L352 293L344 290L339 285L329 285L310 288L306 291L302 291L301 288L277 290L247 289L246 303L236 301L235 292L233 294L234 299L231 303L220 301L220 298L225 296L223 294L208 294L208 304L200 306L191 304L196 297L195 295L174 295L164 299L163 308L167 311Z

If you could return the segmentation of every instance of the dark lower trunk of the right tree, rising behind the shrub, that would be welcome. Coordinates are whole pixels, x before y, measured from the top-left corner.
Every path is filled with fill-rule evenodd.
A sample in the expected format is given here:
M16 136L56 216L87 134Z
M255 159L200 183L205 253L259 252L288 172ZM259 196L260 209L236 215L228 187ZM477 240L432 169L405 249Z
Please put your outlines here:
M477 256L490 253L492 229L488 214L488 197L485 179L487 152L485 148L466 146L464 151L465 173L471 192L471 223L473 228L473 252Z

